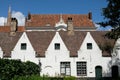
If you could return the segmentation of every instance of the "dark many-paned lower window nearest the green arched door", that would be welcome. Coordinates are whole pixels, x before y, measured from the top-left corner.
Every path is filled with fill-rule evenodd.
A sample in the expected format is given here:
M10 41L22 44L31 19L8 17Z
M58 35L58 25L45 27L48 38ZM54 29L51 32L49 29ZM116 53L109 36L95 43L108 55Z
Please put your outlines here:
M77 62L77 76L86 75L87 75L86 62Z

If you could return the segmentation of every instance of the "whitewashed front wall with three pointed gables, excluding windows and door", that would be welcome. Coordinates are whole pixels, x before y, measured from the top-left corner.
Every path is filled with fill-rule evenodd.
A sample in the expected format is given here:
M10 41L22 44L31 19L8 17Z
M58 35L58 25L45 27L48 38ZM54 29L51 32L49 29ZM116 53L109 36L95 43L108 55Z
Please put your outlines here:
M27 49L21 50L21 43L27 43ZM60 50L55 50L55 43L60 43ZM92 43L92 49L87 49L87 43ZM21 59L22 61L32 61L38 64L38 60L42 63L41 75L58 76L60 75L60 62L70 62L71 75L77 76L76 62L87 63L87 76L95 77L95 67L102 67L102 76L111 76L108 68L111 61L111 57L102 57L102 51L98 47L97 43L88 32L80 49L78 50L78 57L70 57L70 51L65 46L59 32L56 32L52 39L48 49L45 52L45 57L36 58L35 51L32 47L26 33L23 33L15 48L12 51L12 59ZM110 66L111 67L111 66Z

